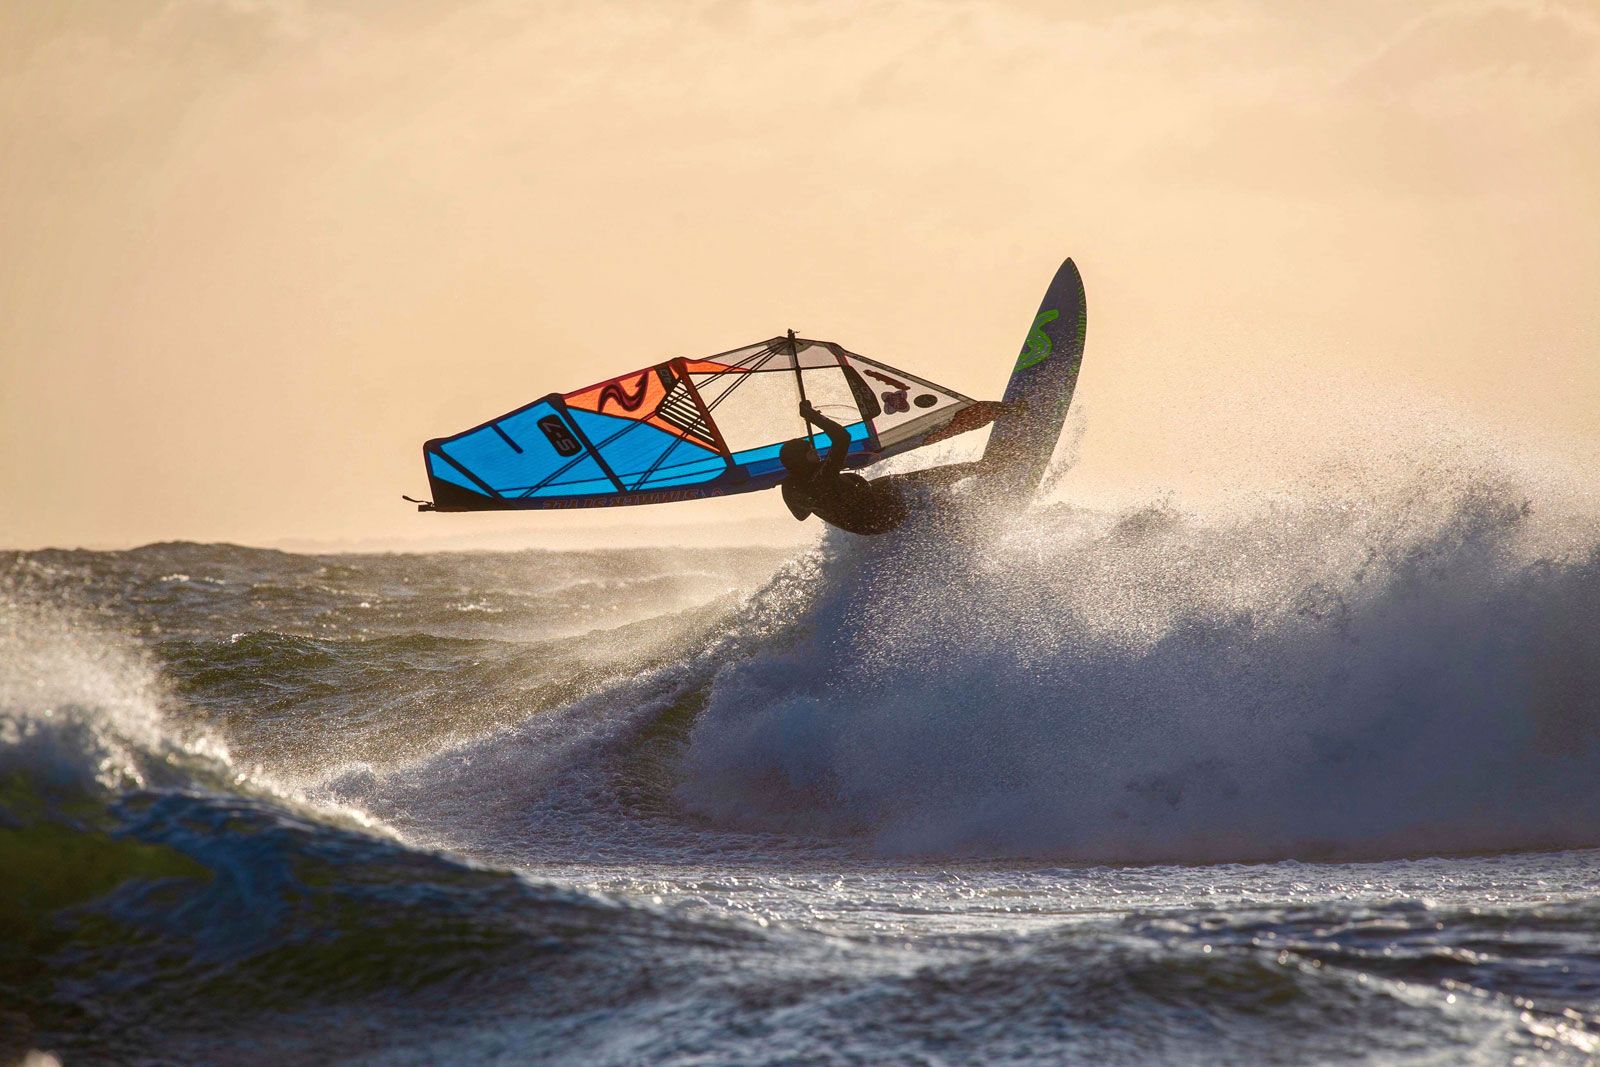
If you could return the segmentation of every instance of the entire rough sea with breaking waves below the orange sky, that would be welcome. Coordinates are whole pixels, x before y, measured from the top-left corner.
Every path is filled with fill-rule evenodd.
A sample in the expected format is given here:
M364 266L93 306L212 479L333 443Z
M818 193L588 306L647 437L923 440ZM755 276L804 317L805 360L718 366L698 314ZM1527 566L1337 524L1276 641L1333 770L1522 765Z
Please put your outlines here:
M1595 1062L1597 530L3 553L0 1062Z

